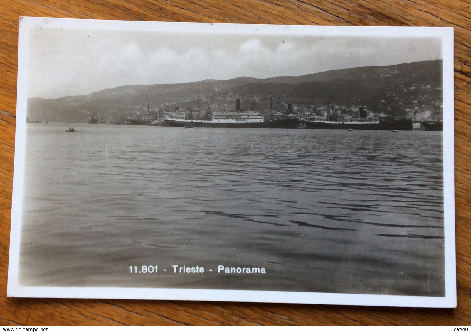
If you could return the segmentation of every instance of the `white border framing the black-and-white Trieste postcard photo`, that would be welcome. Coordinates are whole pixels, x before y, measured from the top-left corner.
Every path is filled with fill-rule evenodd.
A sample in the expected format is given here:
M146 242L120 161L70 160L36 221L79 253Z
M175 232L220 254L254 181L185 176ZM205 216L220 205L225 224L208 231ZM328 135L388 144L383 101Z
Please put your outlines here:
M342 35L369 37L439 37L443 60L443 170L445 218L445 297L374 294L278 292L245 290L160 289L124 287L27 287L18 285L18 268L23 205L26 140L26 103L28 94L29 32L32 28L71 28L127 31L172 31L207 33L257 33L297 35ZM454 182L454 55L453 28L436 27L358 27L173 23L105 21L21 17L18 42L18 87L16 103L15 168L11 211L8 264L9 297L212 300L244 302L316 303L339 305L456 307L455 258L455 182Z

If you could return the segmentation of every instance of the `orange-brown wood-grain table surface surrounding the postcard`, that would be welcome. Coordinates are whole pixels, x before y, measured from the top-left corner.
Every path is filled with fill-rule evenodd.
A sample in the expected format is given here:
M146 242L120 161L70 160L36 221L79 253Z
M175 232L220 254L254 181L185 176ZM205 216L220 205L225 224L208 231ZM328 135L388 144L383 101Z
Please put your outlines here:
M19 16L454 27L457 308L7 298ZM0 17L0 325L471 325L470 0L0 0Z

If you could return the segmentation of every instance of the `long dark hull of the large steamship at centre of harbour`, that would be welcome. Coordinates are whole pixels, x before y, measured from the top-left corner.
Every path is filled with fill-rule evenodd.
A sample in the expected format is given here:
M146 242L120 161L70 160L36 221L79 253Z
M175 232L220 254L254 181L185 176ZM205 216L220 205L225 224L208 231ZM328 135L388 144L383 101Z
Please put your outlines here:
M193 127L205 128L297 128L299 119L281 119L264 122L216 122L208 120L178 121L165 119L165 123L172 127Z

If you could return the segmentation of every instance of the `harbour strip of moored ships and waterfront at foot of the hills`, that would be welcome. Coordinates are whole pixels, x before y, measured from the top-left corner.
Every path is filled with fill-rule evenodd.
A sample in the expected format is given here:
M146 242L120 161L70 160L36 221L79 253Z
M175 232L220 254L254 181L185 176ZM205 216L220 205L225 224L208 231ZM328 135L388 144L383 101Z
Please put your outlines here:
M199 99L198 99L199 105ZM395 118L394 115L376 114L367 111L366 106L351 107L350 109L293 111L292 103L287 110L269 111L264 114L255 111L241 110L240 99L235 100L235 110L212 111L211 107L203 112L200 108L194 110L187 107L181 111L179 107L173 112L150 111L135 112L132 115L119 115L106 121L104 117L97 120L92 114L89 124L139 125L139 126L171 126L171 127L207 127L207 128L273 128L273 129L343 129L343 130L428 130L443 131L442 121L413 121L411 117ZM302 106L299 106L299 110ZM327 111L326 111L327 110ZM343 111L343 112L342 112ZM342 114L343 113L343 114ZM39 122L34 121L34 122ZM47 123L47 122L46 122Z

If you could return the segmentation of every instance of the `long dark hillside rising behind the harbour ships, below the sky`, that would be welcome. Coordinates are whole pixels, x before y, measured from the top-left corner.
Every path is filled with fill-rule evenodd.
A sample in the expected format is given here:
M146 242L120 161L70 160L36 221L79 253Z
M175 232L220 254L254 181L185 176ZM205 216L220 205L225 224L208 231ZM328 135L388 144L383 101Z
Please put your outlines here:
M28 117L52 122L86 122L92 113L111 119L135 111L147 112L176 107L234 109L235 99L243 109L284 111L288 103L303 109L366 105L374 112L406 109L429 110L441 118L441 60L403 63L392 66L370 66L325 71L303 76L281 76L269 79L239 77L229 80L203 80L191 83L135 85L109 88L89 95L57 99L30 98ZM255 106L253 106L255 104Z

